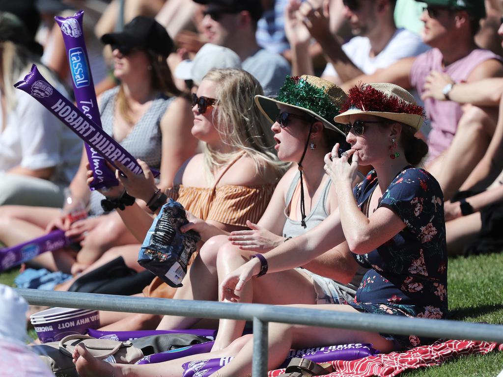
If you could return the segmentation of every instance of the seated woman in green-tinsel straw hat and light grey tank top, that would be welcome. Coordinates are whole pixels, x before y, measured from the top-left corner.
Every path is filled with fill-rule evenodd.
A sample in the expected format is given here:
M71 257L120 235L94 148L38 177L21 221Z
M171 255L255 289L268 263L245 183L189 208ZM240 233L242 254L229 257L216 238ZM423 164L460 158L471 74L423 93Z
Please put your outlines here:
M299 103L292 98L299 87L318 91L325 99L326 108L309 103L304 107L290 105ZM338 114L345 98L337 85L313 76L287 78L277 100L256 97L259 108L273 123L271 129L278 157L298 166L292 166L279 181L258 224L248 221L249 230L216 236L204 244L201 258L192 266L198 271L198 278L186 279L175 299L217 299L218 274L225 275L251 255L268 251L316 226L337 208L337 197L323 170L323 157L334 143L344 143L345 135L326 119L332 119L332 113ZM266 275L258 284L264 284L267 289L244 292L241 302L315 304L349 299L350 289L340 289L333 280L311 271L348 283L355 274L356 262L344 244L326 254L304 266L308 269ZM164 316L158 329L183 328L195 322L197 319ZM243 322L221 320L214 349L225 347L240 336L243 326Z

